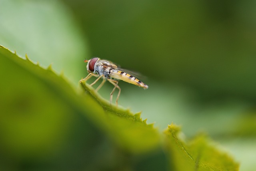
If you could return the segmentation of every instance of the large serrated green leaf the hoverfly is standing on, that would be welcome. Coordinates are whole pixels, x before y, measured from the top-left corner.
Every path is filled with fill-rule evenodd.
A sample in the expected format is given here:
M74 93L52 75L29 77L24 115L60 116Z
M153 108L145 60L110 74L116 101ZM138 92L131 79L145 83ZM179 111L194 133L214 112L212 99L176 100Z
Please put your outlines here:
M74 90L50 67L43 69L2 46L0 73L3 166L20 161L38 167L42 161L47 166L67 163L71 168L76 163L83 168L101 168L109 162L98 165L97 161L108 159L114 165L111 167L118 167L127 155L131 159L160 146L158 131L139 114L106 110L90 95Z

